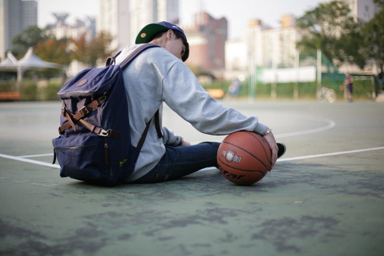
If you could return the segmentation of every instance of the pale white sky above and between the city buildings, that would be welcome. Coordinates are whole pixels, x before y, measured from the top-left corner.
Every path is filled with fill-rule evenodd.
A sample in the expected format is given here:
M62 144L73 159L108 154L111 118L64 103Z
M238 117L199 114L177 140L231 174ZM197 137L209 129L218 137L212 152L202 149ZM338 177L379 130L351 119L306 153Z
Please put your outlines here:
M230 39L243 36L248 20L260 19L270 27L279 27L283 14L301 16L325 0L179 0L180 25L193 22L193 14L199 9L214 18L225 17ZM70 23L74 18L97 16L98 0L37 0L37 24L41 27L55 21L52 12L68 12Z

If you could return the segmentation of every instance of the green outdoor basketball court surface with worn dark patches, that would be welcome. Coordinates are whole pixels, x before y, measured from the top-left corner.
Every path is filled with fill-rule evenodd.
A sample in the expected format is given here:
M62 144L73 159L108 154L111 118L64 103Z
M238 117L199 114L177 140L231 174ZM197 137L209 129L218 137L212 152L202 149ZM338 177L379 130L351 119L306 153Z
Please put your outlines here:
M117 187L60 178L60 102L1 102L0 255L384 255L384 103L221 102L287 146L253 185L215 168ZM223 138L166 106L163 125Z

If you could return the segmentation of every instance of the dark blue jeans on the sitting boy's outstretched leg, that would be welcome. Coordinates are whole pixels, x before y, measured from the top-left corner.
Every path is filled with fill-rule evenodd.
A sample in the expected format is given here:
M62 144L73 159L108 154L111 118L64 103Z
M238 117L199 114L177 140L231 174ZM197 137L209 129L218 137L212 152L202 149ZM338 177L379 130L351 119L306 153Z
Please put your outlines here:
M217 167L218 142L190 146L165 146L160 161L147 174L132 183L156 183L180 178L205 167Z

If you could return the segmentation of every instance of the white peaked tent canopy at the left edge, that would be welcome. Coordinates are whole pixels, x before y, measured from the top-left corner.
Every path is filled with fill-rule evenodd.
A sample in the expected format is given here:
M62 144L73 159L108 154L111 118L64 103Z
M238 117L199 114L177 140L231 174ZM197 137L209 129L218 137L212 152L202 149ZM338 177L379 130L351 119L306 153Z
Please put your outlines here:
M37 57L33 53L33 47L29 47L25 55L17 60L12 53L7 52L7 57L0 62L0 71L17 71L17 81L22 80L22 72L24 70L42 70L45 68L64 68L64 65L47 62Z

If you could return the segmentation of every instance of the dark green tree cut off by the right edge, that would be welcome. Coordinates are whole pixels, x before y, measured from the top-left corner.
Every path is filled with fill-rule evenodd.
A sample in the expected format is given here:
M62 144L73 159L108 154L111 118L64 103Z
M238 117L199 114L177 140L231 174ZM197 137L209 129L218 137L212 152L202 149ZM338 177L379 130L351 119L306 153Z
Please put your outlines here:
M368 58L374 59L380 73L384 71L384 1L376 0L375 2L381 5L381 9L363 25L361 33L364 52Z

